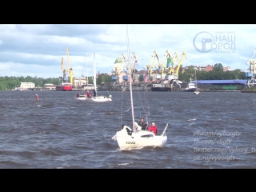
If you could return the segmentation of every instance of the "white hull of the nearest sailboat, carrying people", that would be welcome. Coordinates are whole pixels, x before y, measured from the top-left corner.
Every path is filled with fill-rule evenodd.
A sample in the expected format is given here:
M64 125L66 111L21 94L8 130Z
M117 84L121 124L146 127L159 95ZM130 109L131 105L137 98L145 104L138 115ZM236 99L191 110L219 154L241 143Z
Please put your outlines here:
M154 133L148 130L141 130L129 135L125 131L120 130L112 139L117 140L120 150L129 150L145 146L163 147L166 145L167 136L154 135Z

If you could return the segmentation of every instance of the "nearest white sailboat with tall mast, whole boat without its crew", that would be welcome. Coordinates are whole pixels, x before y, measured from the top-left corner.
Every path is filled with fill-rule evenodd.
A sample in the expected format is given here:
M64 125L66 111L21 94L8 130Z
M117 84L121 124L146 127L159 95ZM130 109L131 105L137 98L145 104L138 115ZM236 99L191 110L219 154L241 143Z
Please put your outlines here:
M127 36L127 46L128 46L128 62L130 67L130 51L129 51L129 38L128 38L128 26L126 26L126 36ZM130 70L129 70L130 71ZM129 73L129 78L131 77L131 73ZM167 136L166 136L166 125L162 134L155 135L154 132L149 130L136 130L134 122L134 104L133 104L133 89L132 89L132 81L129 81L130 84L130 106L131 106L131 114L132 114L132 124L133 131L128 132L130 129L129 126L123 126L122 130L117 131L117 133L112 137L114 141L118 142L118 146L120 150L130 150L130 149L141 149L146 146L158 146L163 147L166 145Z

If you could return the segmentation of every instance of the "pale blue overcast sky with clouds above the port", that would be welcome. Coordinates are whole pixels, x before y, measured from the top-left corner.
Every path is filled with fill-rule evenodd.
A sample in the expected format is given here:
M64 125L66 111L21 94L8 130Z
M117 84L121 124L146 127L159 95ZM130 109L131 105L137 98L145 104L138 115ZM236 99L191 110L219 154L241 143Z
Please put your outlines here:
M166 50L177 52L182 66L222 63L246 71L256 48L256 25L129 25L130 57L136 54L137 70L149 64L154 51L160 62ZM58 78L66 47L74 77L97 71L111 73L116 58L128 58L126 25L0 25L0 76ZM86 57L87 53L87 57ZM151 60L152 61L152 60ZM154 66L158 65L155 61ZM124 65L125 66L125 65Z

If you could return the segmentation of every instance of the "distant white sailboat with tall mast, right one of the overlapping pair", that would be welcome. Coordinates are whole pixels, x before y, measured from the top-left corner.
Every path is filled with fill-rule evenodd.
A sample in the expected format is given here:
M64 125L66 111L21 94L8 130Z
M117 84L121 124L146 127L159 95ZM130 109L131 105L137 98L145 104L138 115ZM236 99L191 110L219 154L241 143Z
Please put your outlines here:
M95 63L95 53L94 53L94 96L87 97L86 101L88 102L112 102L112 95L104 96L104 95L97 95L97 86L96 86L96 63Z

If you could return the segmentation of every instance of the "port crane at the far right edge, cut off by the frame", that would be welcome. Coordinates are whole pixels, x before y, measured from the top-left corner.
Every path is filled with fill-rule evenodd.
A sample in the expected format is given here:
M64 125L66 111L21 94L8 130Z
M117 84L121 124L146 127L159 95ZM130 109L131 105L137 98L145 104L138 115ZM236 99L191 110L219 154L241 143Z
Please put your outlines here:
M255 74L256 74L256 63L254 61L254 55L256 54L256 48L254 50L254 54L252 54L250 61L246 62L246 65L250 65L250 67L247 69L249 72L246 72L246 86L250 88L250 86L255 86L256 85L256 79L255 79Z

